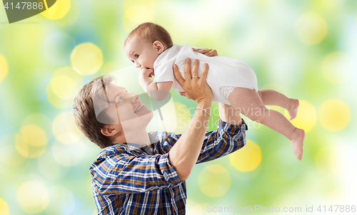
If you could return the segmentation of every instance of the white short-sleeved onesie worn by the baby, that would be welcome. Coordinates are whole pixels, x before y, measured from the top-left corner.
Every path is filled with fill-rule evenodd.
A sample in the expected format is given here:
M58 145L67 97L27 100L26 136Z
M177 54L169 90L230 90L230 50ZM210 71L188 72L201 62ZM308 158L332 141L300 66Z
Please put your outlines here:
M208 63L206 82L211 87L214 102L230 105L227 99L228 94L236 87L258 91L256 73L246 63L223 56L208 57L194 52L191 46L187 44L183 46L174 45L156 58L154 82L172 81L172 88L183 92L184 90L174 76L172 65L178 65L178 70L184 78L186 58L191 58L192 65L193 60L198 59L198 77L201 77L204 63Z

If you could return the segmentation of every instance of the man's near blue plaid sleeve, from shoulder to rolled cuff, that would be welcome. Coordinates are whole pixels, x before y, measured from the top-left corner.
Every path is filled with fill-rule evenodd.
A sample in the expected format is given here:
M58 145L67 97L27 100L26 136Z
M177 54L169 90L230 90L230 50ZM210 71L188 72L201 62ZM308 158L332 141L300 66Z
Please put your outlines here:
M129 156L111 154L91 166L92 183L102 195L141 193L174 187L182 181L169 154Z

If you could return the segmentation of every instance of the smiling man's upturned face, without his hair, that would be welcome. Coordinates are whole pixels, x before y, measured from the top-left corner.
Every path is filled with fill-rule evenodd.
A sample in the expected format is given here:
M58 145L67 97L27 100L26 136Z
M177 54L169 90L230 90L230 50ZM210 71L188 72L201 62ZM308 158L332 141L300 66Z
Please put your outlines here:
M109 103L115 108L109 108L107 114L111 117L119 117L119 123L125 130L146 127L154 113L151 112L139 99L136 93L128 93L125 88L110 83L106 87ZM116 106L115 106L116 104Z

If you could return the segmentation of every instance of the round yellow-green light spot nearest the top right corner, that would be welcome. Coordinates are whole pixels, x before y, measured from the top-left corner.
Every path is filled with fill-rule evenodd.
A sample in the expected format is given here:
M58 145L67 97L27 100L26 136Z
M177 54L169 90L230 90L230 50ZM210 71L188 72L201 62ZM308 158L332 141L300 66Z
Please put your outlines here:
M326 21L318 14L306 13L298 17L295 25L296 36L306 45L320 43L327 34Z

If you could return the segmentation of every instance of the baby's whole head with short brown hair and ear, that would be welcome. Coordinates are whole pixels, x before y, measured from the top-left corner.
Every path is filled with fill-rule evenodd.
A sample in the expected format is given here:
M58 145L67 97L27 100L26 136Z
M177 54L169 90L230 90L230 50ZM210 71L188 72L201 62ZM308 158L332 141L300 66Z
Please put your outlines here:
M136 68L152 68L156 58L167 48L171 48L171 36L165 28L154 23L137 26L124 42L124 51Z

